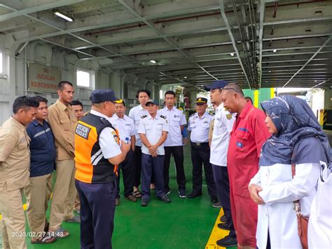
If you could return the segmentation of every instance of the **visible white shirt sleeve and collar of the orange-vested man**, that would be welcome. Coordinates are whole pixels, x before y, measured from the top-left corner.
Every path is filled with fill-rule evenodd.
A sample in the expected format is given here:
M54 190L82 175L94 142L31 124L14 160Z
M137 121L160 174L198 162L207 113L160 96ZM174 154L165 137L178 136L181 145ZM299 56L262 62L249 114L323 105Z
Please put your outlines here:
M91 110L90 114L93 114L95 116L101 116L102 118L108 120L111 123L111 118L100 112ZM112 132L114 133L114 130L111 127L106 127L99 135L99 146L100 149L102 149L102 154L105 159L111 159L112 157L118 156L122 153L120 146L114 139L114 135L112 134Z

